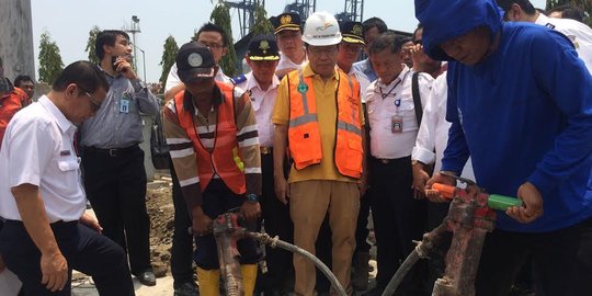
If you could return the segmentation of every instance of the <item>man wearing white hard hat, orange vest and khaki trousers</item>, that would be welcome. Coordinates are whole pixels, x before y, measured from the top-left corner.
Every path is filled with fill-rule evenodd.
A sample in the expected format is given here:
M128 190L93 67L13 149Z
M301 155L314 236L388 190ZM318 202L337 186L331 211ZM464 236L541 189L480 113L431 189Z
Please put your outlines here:
M350 272L355 248L360 194L365 189L364 118L360 84L335 69L341 33L335 18L316 12L306 21L303 41L309 64L286 75L277 90L272 121L275 193L289 202L294 242L315 253L323 218L332 230L332 270L352 293ZM292 168L281 173L289 143ZM294 255L296 295L315 294L315 266Z

